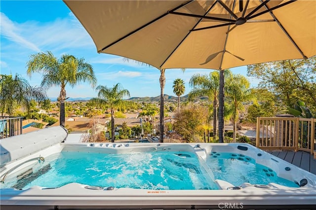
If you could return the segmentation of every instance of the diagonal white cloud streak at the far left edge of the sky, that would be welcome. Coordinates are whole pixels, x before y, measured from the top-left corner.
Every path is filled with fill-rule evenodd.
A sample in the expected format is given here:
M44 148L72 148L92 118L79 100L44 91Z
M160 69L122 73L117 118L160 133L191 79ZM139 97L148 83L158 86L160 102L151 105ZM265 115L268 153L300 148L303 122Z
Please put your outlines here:
M25 46L26 48L29 48L33 51L40 52L40 48L29 41L27 38L23 37L21 34L23 33L23 30L20 30L19 27L17 27L16 23L13 23L4 13L0 13L1 18L1 35L6 37L7 39L16 42L22 46ZM33 31L34 32L34 31Z

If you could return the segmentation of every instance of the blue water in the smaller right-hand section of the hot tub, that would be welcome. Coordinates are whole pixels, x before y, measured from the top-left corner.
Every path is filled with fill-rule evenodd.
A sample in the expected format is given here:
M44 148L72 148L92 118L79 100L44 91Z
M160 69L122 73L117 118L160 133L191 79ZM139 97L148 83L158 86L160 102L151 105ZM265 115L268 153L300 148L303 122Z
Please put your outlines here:
M215 179L226 180L235 186L244 182L273 182L288 187L299 187L295 182L278 177L271 168L257 164L253 158L243 154L213 151L206 158L206 164L212 169Z

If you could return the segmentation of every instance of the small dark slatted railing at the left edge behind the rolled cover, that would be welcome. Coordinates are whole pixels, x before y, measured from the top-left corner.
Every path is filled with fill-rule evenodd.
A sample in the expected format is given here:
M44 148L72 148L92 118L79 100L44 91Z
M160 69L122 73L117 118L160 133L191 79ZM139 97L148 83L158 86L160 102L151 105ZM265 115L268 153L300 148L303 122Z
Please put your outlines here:
M0 139L22 134L23 117L0 116Z

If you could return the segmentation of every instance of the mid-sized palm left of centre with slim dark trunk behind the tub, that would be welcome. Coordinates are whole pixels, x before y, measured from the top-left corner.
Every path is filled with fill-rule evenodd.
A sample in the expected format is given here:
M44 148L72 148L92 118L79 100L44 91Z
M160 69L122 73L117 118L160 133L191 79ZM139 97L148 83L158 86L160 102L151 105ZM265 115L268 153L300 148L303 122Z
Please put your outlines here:
M99 90L98 97L92 98L91 101L98 105L105 105L111 110L111 140L114 143L115 140L115 122L114 113L115 110L122 104L122 98L124 96L129 96L129 91L123 89L118 83L113 88L108 88L106 86L98 86L96 90Z

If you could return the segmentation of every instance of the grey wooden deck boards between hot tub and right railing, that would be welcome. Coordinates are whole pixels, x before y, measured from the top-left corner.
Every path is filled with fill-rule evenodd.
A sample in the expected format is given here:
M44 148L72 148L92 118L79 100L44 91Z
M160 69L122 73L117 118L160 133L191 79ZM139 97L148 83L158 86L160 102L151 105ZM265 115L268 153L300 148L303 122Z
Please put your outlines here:
M285 160L316 175L316 159L305 151L267 151L276 157Z

